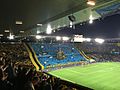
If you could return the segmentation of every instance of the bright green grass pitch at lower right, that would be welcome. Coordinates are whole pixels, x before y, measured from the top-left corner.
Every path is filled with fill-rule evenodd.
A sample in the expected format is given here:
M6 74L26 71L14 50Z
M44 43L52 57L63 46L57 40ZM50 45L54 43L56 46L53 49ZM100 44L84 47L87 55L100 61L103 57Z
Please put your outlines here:
M63 68L51 71L49 74L95 90L120 90L118 62Z

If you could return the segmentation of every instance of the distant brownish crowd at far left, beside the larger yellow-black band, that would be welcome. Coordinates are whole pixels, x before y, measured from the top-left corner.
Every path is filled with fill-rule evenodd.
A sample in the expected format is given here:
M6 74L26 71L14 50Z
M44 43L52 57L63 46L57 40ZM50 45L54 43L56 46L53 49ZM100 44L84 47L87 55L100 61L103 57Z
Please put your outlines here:
M7 60L26 61L29 59L26 48L20 43L0 43L0 57Z

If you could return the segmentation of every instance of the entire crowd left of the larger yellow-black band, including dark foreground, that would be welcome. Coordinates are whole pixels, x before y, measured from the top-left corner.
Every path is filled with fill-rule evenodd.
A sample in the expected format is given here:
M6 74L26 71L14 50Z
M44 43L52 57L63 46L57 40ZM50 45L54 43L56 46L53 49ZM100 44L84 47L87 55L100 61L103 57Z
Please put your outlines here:
M0 48L0 90L79 90L42 70L36 71L23 44L2 43Z

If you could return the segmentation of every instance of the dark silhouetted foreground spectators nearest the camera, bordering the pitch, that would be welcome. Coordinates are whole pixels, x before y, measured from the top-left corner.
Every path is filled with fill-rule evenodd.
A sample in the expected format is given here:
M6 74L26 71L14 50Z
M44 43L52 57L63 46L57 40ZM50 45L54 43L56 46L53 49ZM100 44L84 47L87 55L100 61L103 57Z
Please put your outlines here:
M0 90L78 90L67 82L36 71L33 67L16 66L12 61L0 62Z

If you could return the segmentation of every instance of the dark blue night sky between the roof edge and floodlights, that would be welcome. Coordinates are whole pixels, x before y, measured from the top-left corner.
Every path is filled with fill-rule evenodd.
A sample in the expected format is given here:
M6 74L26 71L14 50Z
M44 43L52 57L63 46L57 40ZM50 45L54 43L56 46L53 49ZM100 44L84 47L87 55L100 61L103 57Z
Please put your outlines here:
M120 37L120 15L107 16L103 19L95 20L93 24L88 22L76 25L76 29L63 29L55 34L83 34L91 38L119 38Z

